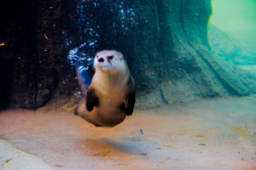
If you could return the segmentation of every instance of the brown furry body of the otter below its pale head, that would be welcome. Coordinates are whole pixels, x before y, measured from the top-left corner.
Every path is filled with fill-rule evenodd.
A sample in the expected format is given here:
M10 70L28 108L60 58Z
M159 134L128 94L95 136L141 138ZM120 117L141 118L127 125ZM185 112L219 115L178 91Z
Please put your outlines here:
M114 54L117 52L113 51ZM135 103L135 86L125 60L117 71L96 68L77 114L96 126L113 127L130 116Z

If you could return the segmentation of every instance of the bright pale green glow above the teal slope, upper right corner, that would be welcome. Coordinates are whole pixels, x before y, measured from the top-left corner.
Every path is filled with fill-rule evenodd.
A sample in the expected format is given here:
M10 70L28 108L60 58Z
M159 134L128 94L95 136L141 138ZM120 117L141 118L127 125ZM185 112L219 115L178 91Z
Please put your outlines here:
M256 0L212 0L210 24L234 41L256 48Z

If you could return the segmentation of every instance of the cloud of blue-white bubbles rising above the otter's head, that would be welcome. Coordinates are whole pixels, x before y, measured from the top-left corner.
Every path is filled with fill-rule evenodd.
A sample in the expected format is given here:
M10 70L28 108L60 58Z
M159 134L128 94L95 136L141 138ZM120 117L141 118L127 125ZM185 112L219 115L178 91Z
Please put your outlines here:
M106 13L102 6L108 8L111 7L111 10ZM97 15L100 15L99 18L104 18L102 15L108 16L115 14L118 18L116 22L113 22L111 30L115 35L117 34L126 34L129 31L129 28L136 26L136 14L131 8L129 3L123 1L94 1L94 3L87 3L82 1L77 5L77 18L74 21L74 25L79 28L77 30L78 35L84 35L84 37L76 37L73 35L68 35L67 32L63 34L67 37L66 48L70 48L68 53L68 63L70 65L76 65L78 62L84 63L84 68L89 69L89 66L93 63L93 58L96 52L99 50L98 43L99 39L102 38L101 31L102 23L101 20L96 20ZM93 9L92 9L93 8ZM90 13L88 10L90 9ZM110 12L110 13L109 13ZM106 41L108 44L109 42ZM111 48L111 46L110 46Z

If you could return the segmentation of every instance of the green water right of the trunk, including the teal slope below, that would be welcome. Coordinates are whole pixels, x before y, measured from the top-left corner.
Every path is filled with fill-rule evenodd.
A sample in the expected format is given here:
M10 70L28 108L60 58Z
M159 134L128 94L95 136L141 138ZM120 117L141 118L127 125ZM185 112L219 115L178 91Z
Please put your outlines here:
M212 52L232 64L255 73L256 2L212 1L208 26ZM229 6L229 8L226 8ZM222 32L218 34L218 32Z

